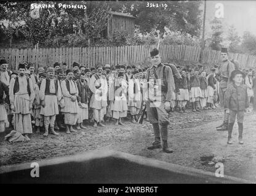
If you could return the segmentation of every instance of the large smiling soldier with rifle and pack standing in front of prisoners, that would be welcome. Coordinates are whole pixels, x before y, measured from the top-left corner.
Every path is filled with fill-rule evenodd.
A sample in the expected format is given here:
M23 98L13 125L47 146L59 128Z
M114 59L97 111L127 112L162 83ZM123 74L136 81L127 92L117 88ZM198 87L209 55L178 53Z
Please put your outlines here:
M146 96L146 111L154 130L154 143L148 149L162 148L165 153L172 153L172 149L168 148L167 129L169 124L168 113L170 111L170 101L172 100L175 89L174 77L172 75L172 69L162 64L159 51L156 48L150 52L150 56L153 66L146 71L145 79L147 82L145 83L146 85L143 85L143 88L146 89L143 92ZM165 77L163 77L163 72L165 72Z

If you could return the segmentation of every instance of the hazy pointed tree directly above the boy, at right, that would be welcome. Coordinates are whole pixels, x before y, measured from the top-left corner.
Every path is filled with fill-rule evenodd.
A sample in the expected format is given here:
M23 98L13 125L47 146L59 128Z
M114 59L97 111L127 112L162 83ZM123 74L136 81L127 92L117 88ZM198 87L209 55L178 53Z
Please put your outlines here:
M234 25L231 25L230 28L228 28L227 39L230 41L230 47L228 48L229 51L232 53L239 53L239 43L241 42L241 37L238 36L238 32L236 31L236 28L234 28Z

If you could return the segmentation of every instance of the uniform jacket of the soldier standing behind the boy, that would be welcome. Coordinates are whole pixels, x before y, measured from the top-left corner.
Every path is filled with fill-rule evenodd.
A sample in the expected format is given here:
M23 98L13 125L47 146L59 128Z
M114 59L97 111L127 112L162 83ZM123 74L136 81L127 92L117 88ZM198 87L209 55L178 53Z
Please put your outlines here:
M230 80L231 72L234 70L234 64L228 60L222 61L218 73L222 78L220 81L220 88L226 88L232 81Z

